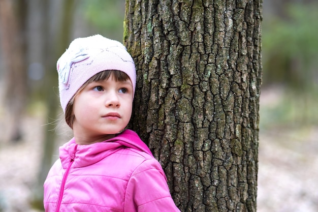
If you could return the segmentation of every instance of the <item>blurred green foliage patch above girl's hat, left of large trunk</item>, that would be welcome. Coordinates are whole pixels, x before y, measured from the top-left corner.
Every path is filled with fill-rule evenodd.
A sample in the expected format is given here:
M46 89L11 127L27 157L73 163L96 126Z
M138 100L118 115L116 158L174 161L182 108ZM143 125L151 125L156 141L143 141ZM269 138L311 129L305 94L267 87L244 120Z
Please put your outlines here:
M81 10L100 34L122 42L125 0L82 0Z

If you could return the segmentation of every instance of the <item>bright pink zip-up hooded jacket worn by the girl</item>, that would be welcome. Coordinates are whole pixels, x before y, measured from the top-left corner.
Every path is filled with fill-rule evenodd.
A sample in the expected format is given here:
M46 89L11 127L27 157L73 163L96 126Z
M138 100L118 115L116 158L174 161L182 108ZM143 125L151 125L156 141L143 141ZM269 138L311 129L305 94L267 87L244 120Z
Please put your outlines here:
M59 152L44 183L45 211L180 211L160 163L131 130L90 145L73 138Z

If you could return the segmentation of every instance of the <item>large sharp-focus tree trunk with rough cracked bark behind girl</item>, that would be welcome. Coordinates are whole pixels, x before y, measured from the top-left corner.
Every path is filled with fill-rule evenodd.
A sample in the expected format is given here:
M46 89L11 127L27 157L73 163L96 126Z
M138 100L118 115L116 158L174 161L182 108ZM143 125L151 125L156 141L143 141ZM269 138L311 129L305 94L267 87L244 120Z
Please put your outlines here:
M131 128L181 211L256 211L262 1L126 1Z

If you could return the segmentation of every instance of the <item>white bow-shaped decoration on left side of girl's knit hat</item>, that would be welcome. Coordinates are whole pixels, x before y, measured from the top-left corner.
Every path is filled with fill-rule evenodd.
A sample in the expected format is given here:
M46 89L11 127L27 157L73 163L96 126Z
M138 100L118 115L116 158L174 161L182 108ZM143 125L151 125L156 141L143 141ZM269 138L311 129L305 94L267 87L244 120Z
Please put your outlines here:
M70 78L71 66L89 57L87 50L84 48L76 49L77 51L66 51L60 59L57 68L58 77L63 84L67 84Z

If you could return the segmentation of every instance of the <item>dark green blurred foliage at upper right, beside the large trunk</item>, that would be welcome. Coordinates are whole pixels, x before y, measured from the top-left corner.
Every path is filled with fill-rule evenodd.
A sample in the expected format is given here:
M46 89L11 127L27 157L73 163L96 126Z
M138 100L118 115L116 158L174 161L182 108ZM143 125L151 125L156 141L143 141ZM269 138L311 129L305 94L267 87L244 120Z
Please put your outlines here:
M289 4L284 16L264 14L264 85L284 83L298 91L317 84L318 4Z

